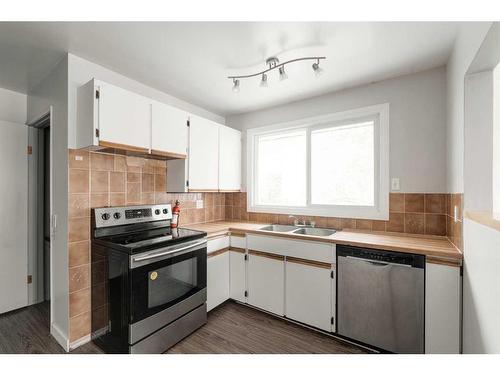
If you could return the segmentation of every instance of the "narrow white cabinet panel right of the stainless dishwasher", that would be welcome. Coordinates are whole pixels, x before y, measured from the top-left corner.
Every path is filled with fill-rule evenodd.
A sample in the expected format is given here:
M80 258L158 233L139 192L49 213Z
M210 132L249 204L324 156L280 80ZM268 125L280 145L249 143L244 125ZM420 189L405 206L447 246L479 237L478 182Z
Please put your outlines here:
M460 353L460 268L425 265L425 352Z

